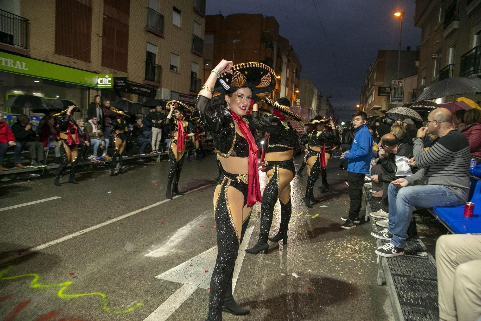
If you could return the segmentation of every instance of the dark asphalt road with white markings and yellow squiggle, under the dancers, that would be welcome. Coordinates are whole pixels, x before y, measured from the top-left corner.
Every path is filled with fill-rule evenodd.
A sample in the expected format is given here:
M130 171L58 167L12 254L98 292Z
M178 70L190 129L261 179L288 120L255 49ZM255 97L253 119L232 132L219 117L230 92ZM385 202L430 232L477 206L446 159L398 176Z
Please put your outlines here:
M349 198L338 165L329 163L330 189L315 187L312 209L300 204L305 170L294 178L286 246L269 242L268 255L240 251L234 296L251 314L224 320L391 320L370 225L340 228ZM215 158L185 163L179 188L189 193L174 200L165 200L167 171L167 161L132 162L116 177L79 171L80 185L55 187L53 178L0 185L0 320L205 320ZM241 249L257 241L258 211ZM277 205L271 236L278 224Z

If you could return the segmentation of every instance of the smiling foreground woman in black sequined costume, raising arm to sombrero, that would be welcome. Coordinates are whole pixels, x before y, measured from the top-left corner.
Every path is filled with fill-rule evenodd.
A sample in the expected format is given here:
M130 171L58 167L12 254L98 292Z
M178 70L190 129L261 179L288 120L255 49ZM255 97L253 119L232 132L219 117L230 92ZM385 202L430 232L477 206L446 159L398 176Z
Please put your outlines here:
M252 206L261 201L255 129L253 121L245 115L251 99L255 103L270 95L276 77L264 64L232 66L231 61L222 60L199 93L197 107L208 129L216 135L216 153L222 164L222 175L214 192L217 259L210 285L208 321L221 321L223 307L235 315L250 312L239 307L232 296L232 274L239 246ZM212 96L221 99L211 99Z

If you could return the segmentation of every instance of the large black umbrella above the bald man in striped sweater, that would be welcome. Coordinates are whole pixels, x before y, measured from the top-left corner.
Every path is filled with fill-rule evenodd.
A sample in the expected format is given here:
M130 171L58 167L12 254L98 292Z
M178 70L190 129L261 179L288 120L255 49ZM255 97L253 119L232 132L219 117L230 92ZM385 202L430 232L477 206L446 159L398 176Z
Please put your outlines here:
M449 77L430 85L416 101L481 92L481 79L477 77Z

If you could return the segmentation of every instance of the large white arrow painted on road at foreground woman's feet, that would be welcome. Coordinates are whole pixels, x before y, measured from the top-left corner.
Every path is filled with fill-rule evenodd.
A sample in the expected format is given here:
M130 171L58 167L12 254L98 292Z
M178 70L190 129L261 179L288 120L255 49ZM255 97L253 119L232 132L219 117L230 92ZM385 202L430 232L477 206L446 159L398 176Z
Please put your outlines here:
M232 277L232 291L234 291L237 278L241 272L242 261L245 257L245 249L251 239L254 227L249 227L245 231L244 240L242 240L237 256L234 275ZM173 267L164 273L157 275L155 278L182 283L183 285L172 294L164 303L155 309L144 321L165 321L184 303L197 288L207 289L210 286L212 277L212 269L215 266L215 258L217 256L217 246L192 257L191 259ZM190 266L192 265L192 266ZM205 272L208 270L209 272ZM206 302L207 305L207 302Z

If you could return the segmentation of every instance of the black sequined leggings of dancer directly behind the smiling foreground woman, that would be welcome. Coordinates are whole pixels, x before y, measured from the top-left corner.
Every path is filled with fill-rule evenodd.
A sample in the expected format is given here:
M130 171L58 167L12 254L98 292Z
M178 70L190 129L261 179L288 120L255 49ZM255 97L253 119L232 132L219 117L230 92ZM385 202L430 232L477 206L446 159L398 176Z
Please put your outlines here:
M266 188L262 194L261 203L261 229L259 231L259 242L266 243L269 237L269 230L272 225L272 215L274 213L274 206L279 200L280 212L281 212L281 224L279 227L280 234L287 233L287 225L291 220L291 181L296 174L294 167L294 161L265 161L266 173L274 169L272 176L267 181ZM279 169L286 169L292 172L292 177L285 173L285 171L279 171ZM282 177L285 175L286 177ZM282 180L281 186L280 182ZM287 183L287 185L286 185ZM281 194L287 194L284 199L281 200Z

